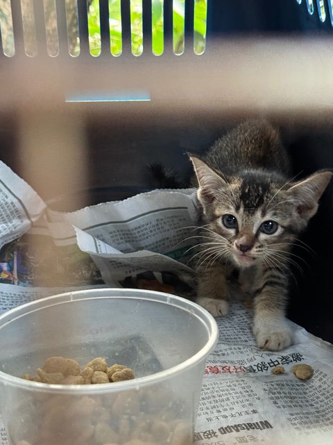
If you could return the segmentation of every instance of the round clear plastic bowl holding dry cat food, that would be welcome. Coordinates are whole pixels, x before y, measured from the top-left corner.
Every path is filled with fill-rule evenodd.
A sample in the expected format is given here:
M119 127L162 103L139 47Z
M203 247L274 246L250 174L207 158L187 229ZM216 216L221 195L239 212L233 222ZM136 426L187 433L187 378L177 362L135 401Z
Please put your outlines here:
M62 293L0 316L1 416L12 445L189 445L214 318L166 293ZM105 357L134 380L54 385L24 380L52 356Z

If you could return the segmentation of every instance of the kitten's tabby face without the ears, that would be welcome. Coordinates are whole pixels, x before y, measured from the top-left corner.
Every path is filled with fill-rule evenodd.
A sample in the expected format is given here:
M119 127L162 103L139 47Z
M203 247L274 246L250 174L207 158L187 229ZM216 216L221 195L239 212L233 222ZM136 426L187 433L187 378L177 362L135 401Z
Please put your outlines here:
M207 253L214 242L220 245L219 254L239 268L258 261L278 266L300 230L295 206L278 190L268 183L244 187L239 179L220 189L204 210Z

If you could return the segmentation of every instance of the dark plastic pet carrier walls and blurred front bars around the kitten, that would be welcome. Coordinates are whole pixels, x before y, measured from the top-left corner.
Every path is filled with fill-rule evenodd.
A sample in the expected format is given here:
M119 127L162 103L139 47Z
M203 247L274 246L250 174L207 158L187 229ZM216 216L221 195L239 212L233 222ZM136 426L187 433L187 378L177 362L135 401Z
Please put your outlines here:
M333 168L332 0L1 0L1 160L52 209L187 180L241 120L277 124L302 177ZM1 178L0 178L1 180ZM333 341L332 185L289 317Z

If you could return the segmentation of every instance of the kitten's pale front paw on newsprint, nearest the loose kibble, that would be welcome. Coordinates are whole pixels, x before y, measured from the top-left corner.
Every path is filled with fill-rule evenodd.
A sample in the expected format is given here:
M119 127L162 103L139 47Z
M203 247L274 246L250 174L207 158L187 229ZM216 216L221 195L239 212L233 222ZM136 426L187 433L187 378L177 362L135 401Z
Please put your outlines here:
M293 333L285 323L260 323L253 327L258 348L281 350L293 344Z

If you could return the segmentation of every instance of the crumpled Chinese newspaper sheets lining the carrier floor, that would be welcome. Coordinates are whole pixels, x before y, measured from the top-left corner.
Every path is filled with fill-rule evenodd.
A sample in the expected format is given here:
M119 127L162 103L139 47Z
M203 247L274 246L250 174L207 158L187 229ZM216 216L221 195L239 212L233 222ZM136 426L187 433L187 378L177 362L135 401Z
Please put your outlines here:
M72 213L51 210L0 161L0 313L24 302L92 286L196 293L191 257L194 189L152 191ZM255 346L252 310L232 302L217 318L194 444L331 445L333 346L290 322L295 343L277 353ZM314 374L298 380L294 364ZM272 373L275 366L285 372ZM0 418L0 445L7 445Z

